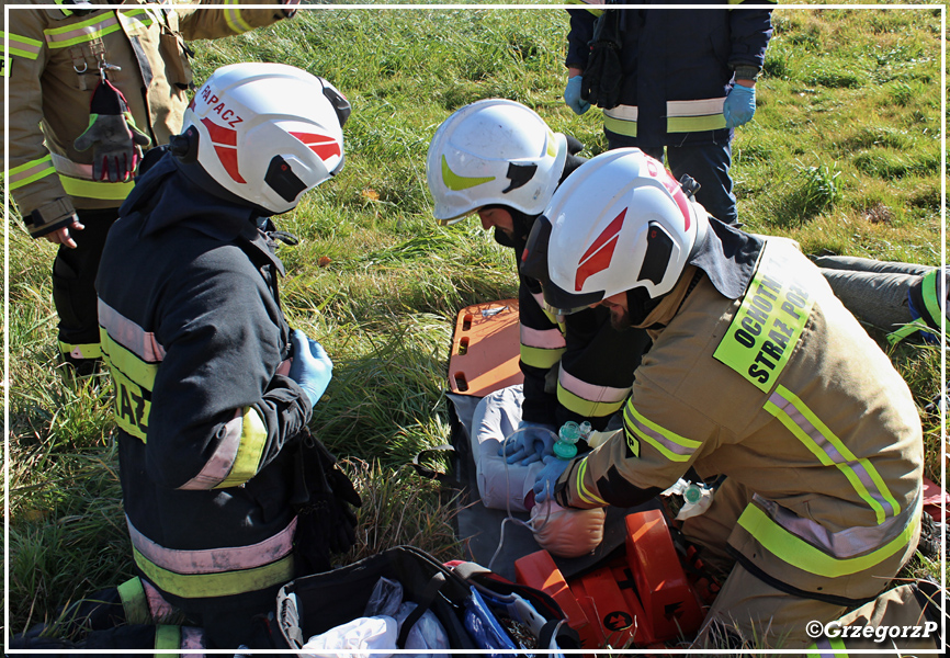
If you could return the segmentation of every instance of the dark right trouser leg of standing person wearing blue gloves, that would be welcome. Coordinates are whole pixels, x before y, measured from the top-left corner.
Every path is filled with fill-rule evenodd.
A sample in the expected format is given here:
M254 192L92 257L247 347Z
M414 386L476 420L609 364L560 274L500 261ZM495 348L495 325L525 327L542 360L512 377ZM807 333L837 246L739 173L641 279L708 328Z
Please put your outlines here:
M667 146L667 167L677 180L687 173L700 184L695 198L706 212L726 224L736 224L736 197L730 178L733 155L728 143Z

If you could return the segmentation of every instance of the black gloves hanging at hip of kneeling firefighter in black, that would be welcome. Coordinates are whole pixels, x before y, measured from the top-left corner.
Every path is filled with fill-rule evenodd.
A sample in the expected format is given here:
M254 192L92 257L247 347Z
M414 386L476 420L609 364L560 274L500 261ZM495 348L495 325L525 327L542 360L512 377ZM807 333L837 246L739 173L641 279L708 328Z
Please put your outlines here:
M294 536L298 574L330 568L330 553L346 553L355 544L357 514L363 501L337 458L308 431L301 435L297 481L292 504L297 512Z

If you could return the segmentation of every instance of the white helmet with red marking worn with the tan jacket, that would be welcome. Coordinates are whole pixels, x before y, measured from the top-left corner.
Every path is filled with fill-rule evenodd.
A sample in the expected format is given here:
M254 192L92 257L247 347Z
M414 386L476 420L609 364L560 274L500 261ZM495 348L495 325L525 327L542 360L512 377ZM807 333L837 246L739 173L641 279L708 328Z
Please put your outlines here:
M562 315L634 288L670 292L708 226L657 160L638 148L607 151L581 164L534 223L522 272L540 279Z

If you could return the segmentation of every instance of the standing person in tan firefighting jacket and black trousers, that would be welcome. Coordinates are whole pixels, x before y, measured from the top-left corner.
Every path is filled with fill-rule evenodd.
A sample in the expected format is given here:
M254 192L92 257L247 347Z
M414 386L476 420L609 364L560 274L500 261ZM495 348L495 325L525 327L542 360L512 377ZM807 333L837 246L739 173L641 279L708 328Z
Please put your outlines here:
M273 9L171 9L132 0L30 0L12 9L8 189L33 238L59 249L53 263L58 352L80 375L100 362L95 272L109 228L132 190L143 150L181 128L192 88L184 41L219 38L293 15ZM245 2L247 3L247 2ZM114 4L114 3L113 3Z

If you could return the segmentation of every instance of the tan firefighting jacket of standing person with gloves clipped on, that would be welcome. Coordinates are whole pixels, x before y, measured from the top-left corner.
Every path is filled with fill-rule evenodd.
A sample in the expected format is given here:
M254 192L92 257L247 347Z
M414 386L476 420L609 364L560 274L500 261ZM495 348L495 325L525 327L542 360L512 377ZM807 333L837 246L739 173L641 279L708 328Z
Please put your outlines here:
M132 189L132 182L92 181L92 149L72 146L89 127L101 65L152 146L167 144L181 128L192 83L184 41L231 36L285 18L279 0L191 2L218 5L207 10L142 0L93 11L60 0L29 3L36 9L10 10L3 75L10 84L5 182L33 237L68 225L73 208L117 207Z

